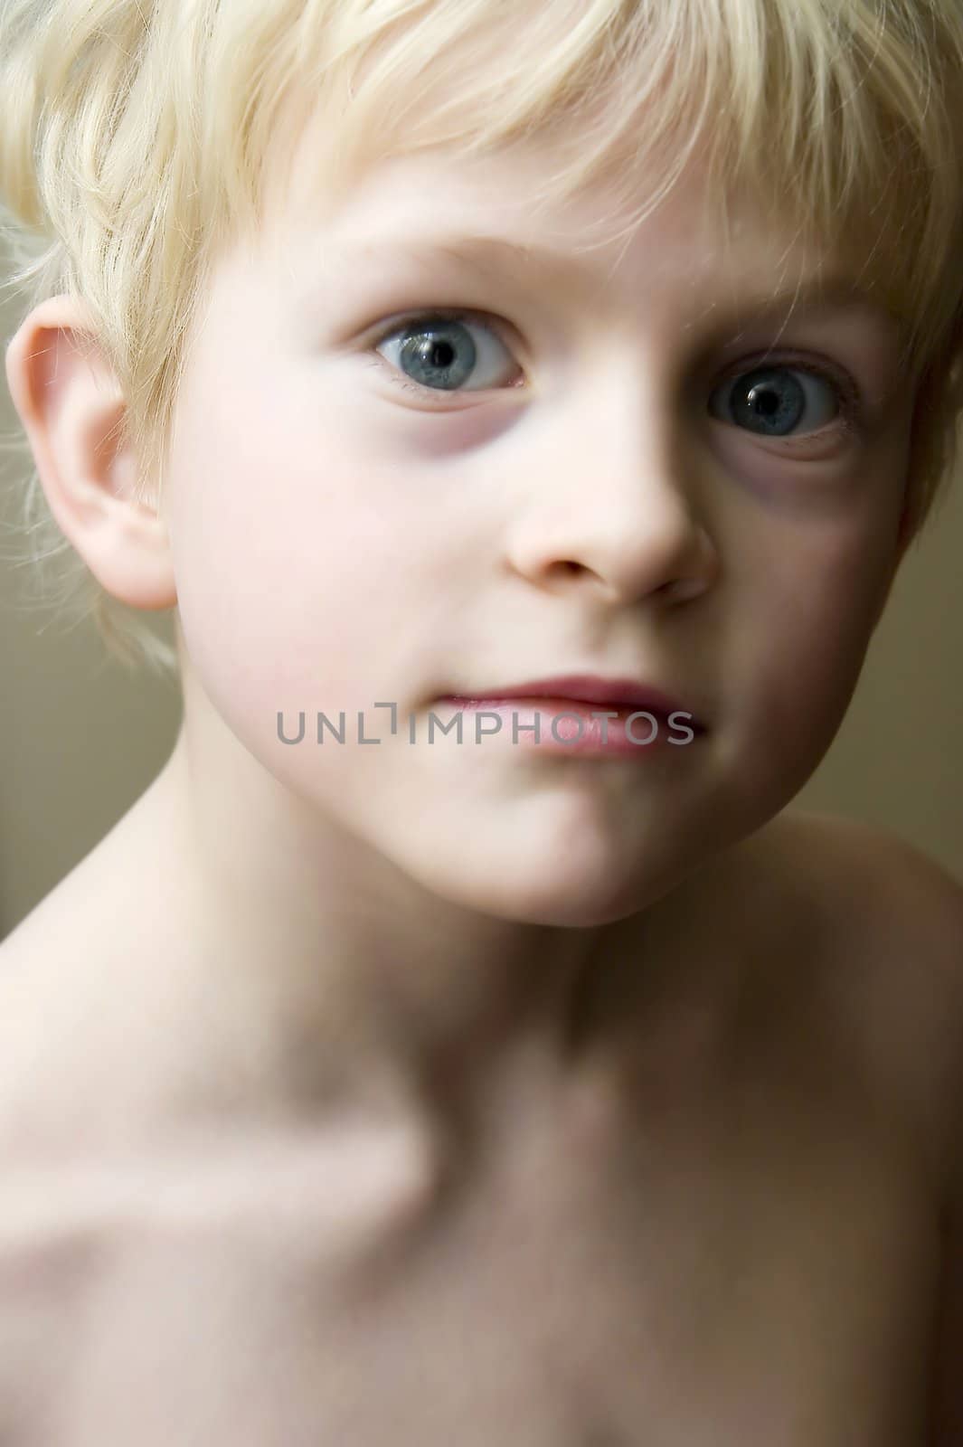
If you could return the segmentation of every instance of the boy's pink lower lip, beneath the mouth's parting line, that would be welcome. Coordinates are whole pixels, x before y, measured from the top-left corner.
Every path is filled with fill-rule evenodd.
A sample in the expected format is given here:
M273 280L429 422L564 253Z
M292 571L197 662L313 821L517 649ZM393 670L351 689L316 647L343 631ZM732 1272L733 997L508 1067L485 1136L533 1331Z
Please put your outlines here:
M681 710L675 722L635 706L612 703L581 703L577 699L460 699L445 697L463 713L484 713L483 719L463 731L464 744L484 744L486 739L508 739L518 748L538 748L549 754L578 754L604 758L665 758L684 755L703 731ZM535 718L539 716L538 741ZM593 716L594 715L594 716ZM603 715L603 716L600 716ZM604 718L604 715L615 715ZM496 719L500 721L496 729ZM554 729L552 729L554 725ZM479 732L480 729L480 732Z

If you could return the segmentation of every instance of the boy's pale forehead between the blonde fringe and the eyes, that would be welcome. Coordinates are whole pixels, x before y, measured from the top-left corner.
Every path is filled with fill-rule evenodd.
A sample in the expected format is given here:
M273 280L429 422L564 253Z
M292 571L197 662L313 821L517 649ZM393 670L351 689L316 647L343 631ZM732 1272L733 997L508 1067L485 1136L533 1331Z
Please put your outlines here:
M898 326L883 297L859 278L856 252L803 239L746 192L727 194L720 226L698 158L638 227L633 218L649 198L604 178L535 207L547 166L561 153L558 140L547 139L468 159L440 148L374 164L335 200L324 188L317 124L308 124L285 184L265 207L265 240L295 285L360 284L402 265L421 266L428 284L457 262L461 273L557 284L570 300L625 285L652 310L675 305L681 292L696 311L722 297L736 310L774 315L824 300Z

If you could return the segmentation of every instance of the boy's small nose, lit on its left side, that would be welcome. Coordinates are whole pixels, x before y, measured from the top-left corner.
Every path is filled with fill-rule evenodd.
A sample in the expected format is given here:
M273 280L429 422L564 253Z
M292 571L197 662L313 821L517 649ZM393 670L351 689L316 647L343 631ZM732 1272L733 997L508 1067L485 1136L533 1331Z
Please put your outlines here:
M607 415L596 405L593 420L570 417L561 463L529 470L538 480L508 540L510 567L529 582L606 602L681 602L711 586L719 557L682 489L671 428L641 418L638 392L630 408L610 396Z

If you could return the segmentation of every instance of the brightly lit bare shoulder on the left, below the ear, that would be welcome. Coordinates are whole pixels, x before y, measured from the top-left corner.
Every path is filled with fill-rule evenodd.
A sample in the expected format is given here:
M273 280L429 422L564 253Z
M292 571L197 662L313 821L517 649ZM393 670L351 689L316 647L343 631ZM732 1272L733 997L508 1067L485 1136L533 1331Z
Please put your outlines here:
M153 858L104 841L0 943L0 1168L85 1149L178 1069L187 913ZM149 881L145 884L145 881ZM166 1072L166 1074L165 1074Z

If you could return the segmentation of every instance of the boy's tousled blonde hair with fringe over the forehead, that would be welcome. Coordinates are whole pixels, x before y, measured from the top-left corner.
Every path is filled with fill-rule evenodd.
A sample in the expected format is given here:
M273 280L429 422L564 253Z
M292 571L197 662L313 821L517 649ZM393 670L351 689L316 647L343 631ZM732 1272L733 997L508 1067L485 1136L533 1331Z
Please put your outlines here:
M256 239L283 184L276 140L294 156L312 117L333 198L377 159L552 133L560 165L534 208L604 178L643 197L639 224L698 155L723 226L740 190L817 252L849 247L907 321L923 527L963 411L960 0L4 0L4 289L23 315L58 294L88 308L142 501L163 492L214 263ZM78 561L36 470L22 524L33 563ZM176 670L142 615L75 576L108 650Z

